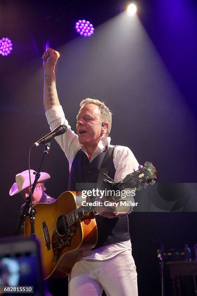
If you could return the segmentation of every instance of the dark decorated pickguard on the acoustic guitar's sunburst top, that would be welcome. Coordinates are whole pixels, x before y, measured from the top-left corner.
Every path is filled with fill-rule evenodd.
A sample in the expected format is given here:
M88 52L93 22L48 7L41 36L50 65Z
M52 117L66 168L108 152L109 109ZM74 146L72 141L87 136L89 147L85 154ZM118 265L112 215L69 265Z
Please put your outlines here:
M52 235L52 248L54 252L53 262L56 262L65 247L70 247L72 237L76 235L77 223L72 224L64 236L60 236L55 230Z

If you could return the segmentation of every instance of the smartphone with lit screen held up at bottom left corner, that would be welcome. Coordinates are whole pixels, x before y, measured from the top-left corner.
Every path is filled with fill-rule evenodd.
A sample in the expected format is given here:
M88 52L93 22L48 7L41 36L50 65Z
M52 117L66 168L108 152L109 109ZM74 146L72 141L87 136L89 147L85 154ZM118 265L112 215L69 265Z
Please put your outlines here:
M28 293L44 295L37 240L27 237L0 239L0 286L29 286Z

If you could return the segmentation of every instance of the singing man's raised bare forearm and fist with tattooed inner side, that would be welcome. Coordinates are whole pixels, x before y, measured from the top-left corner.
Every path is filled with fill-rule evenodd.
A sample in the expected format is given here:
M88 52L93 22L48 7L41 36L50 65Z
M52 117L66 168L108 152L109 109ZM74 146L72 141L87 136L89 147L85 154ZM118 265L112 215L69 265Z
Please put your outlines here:
M57 53L54 49L48 48L47 51L44 52L42 59L44 68L44 107L47 111L59 105L55 76Z

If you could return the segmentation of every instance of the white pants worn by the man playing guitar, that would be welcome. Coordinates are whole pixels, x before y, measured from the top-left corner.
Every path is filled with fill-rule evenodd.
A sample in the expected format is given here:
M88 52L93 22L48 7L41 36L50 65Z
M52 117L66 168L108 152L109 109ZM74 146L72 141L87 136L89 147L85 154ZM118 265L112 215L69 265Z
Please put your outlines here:
M69 296L138 296L136 266L131 250L103 261L80 260L72 268Z

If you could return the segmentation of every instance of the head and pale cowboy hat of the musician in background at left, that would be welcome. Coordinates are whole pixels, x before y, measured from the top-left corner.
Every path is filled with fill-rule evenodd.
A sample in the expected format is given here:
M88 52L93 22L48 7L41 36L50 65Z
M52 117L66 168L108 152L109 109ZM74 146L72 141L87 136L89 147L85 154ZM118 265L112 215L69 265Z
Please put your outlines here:
M35 172L34 170L30 170L30 177L31 177L31 185L34 182L35 179ZM55 198L50 197L45 193L45 186L44 181L50 179L50 175L44 172L41 172L41 176L38 179L38 183L35 187L35 190L33 192L32 196L32 204L37 203L52 203L55 201ZM30 183L29 183L29 173L28 170L23 171L16 175L16 181L12 185L10 189L10 196L13 196L17 193L20 193L21 196L25 199L30 194ZM23 207L23 206L22 206Z

